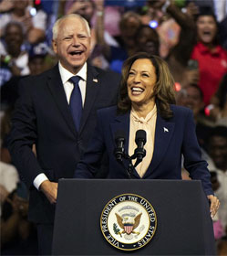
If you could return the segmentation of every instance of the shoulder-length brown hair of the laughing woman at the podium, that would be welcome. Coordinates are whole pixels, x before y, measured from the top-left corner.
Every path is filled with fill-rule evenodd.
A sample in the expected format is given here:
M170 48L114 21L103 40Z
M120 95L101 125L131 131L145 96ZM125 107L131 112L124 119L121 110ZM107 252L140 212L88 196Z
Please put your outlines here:
M173 113L170 110L170 104L175 104L175 95L174 95L174 80L170 73L170 69L167 63L160 59L160 57L155 55L150 55L149 53L139 52L135 55L129 57L122 68L122 79L120 82L120 91L119 91L119 102L118 102L118 113L129 112L131 109L131 101L129 100L127 80L129 77L129 70L132 64L137 59L150 59L150 62L155 68L157 81L153 90L153 97L158 106L158 111L160 116L164 119L169 119L172 117Z

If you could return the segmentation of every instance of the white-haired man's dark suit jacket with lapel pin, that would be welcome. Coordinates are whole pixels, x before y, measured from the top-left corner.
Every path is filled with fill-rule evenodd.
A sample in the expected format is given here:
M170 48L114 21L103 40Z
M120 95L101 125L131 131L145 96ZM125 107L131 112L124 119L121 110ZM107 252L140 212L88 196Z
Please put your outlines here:
M88 65L86 98L77 133L58 70L21 80L20 97L12 118L9 150L20 175L30 188L29 219L54 221L55 208L33 181L45 173L50 181L73 177L96 123L99 108L115 105L120 76ZM36 144L36 155L31 148Z

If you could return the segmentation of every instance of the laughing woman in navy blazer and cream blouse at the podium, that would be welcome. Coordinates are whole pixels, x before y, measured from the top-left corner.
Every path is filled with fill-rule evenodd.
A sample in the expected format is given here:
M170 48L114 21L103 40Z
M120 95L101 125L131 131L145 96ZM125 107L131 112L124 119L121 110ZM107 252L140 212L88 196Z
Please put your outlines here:
M201 160L193 114L175 105L173 86L168 65L159 57L137 53L127 59L118 106L98 111L96 133L75 177L95 176L107 152L109 178L181 179L183 156L191 178L201 180L214 216L220 202L213 196L207 163ZM130 160L129 155L137 157Z

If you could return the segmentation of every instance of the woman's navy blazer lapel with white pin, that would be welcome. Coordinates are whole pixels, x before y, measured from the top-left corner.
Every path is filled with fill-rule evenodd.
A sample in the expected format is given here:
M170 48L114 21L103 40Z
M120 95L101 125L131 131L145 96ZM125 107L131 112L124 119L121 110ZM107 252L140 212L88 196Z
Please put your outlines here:
M170 139L174 132L174 125L174 123L162 119L158 112L155 129L154 154L144 178L150 176L150 173L160 165L163 156L166 154L168 145L170 144Z

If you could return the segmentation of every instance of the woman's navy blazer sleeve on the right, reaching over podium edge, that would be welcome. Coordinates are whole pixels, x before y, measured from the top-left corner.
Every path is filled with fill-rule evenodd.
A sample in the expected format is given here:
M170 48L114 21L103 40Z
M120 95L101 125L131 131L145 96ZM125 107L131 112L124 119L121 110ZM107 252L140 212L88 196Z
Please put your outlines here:
M201 160L201 148L195 133L193 113L188 112L185 123L185 132L182 144L184 167L189 171L192 179L201 180L206 195L213 195L211 175L207 168L207 162Z

